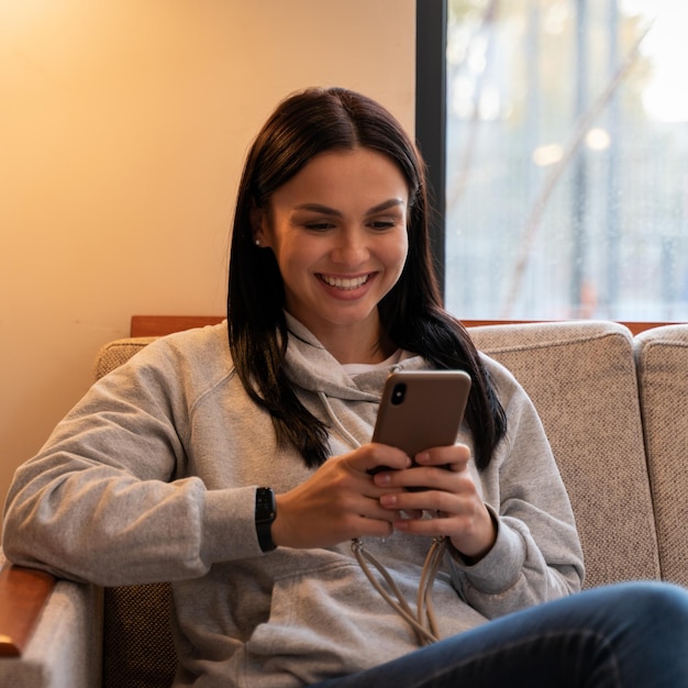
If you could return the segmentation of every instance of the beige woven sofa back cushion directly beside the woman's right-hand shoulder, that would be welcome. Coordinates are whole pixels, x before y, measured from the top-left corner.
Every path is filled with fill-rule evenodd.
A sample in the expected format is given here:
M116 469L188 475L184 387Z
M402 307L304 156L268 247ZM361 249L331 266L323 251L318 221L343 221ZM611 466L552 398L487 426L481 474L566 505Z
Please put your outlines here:
M533 400L568 489L586 587L659 575L632 335L610 322L473 328Z

